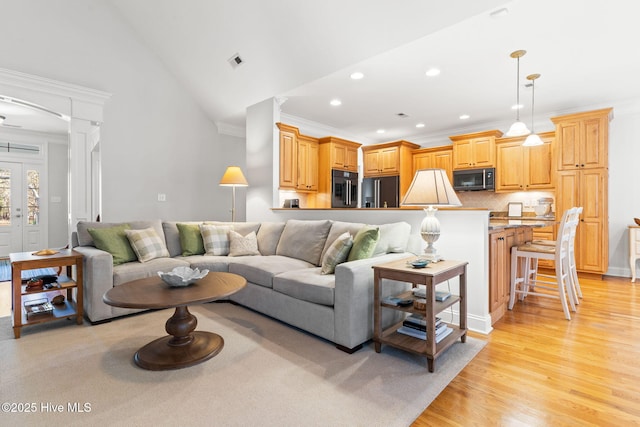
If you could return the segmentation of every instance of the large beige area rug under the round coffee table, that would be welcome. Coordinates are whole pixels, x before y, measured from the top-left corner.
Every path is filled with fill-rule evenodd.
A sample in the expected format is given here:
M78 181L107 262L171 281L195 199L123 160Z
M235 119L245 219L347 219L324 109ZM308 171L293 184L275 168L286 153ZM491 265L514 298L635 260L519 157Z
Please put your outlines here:
M159 372L138 368L132 356L165 335L172 310L97 326L32 325L18 340L10 318L1 318L2 424L407 426L485 344L456 343L429 373L423 357L391 347L378 354L372 343L349 355L229 303L191 312L198 330L223 336L223 350Z

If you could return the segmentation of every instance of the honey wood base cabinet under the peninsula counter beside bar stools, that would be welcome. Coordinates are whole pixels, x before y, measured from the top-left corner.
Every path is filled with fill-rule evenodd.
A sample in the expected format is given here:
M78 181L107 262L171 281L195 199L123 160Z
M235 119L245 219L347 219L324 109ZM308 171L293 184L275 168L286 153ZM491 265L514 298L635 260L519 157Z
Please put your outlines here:
M509 227L489 232L489 313L491 324L507 310L511 284L511 247L531 241L531 227Z

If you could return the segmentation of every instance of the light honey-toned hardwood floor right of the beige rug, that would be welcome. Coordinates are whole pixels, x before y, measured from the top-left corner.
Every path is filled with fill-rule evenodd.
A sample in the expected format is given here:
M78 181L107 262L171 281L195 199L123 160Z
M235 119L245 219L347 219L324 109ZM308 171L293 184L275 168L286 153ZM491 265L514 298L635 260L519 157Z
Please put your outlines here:
M640 284L580 283L571 321L559 301L516 303L413 426L640 425Z

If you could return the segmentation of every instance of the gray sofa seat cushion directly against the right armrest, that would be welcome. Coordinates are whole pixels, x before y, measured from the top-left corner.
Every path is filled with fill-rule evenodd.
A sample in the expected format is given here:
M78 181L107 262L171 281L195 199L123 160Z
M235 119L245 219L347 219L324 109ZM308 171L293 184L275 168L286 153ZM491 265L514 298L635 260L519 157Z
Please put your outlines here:
M321 269L305 268L278 274L273 278L273 290L293 298L333 307L336 278L321 274Z

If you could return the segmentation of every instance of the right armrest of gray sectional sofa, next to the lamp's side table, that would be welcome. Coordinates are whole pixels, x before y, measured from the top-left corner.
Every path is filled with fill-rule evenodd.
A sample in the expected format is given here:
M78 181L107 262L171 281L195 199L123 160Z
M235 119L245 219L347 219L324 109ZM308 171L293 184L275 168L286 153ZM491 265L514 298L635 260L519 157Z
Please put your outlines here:
M335 282L335 342L354 348L373 337L373 266L408 258L410 253L390 253L374 258L345 262L336 266ZM395 282L383 288L383 296L409 288ZM383 325L398 321L398 311L385 310Z

